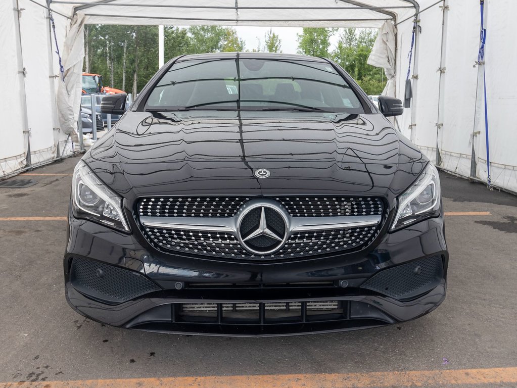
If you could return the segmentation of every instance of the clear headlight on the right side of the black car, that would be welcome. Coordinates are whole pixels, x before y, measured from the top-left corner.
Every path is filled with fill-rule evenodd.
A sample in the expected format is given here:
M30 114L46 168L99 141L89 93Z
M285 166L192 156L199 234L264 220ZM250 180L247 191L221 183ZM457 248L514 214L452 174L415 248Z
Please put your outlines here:
M398 197L398 208L391 230L438 216L440 179L438 170L428 163L413 185Z

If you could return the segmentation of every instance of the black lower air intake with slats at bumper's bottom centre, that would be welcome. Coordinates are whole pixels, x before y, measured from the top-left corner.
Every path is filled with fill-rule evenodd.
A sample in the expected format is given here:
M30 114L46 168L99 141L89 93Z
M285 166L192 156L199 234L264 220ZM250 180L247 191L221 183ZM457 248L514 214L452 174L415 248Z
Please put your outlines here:
M188 302L161 305L125 327L210 335L284 335L376 327L394 320L351 300Z

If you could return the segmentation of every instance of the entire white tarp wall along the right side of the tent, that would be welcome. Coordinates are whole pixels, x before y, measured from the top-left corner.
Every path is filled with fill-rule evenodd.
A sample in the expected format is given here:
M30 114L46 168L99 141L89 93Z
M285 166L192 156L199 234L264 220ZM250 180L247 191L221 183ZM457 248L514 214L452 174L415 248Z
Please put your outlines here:
M439 167L486 182L483 66L476 65L480 5L434 3L419 1L421 9L431 7L419 16L418 68L410 73L418 77L413 80L418 91L412 101L414 109L406 109L399 120L400 128ZM517 66L512 32L517 2L485 0L484 8L491 182L517 192L517 154L513 151L517 78L511 75ZM412 23L409 19L397 26L398 85L405 81ZM399 87L397 97L403 96Z

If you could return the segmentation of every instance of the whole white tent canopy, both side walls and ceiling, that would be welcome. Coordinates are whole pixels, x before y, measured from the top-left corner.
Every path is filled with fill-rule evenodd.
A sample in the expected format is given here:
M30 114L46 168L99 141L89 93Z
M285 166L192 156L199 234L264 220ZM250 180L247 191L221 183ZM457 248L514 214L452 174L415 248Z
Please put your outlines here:
M24 10L13 11L13 5ZM513 47L510 15L517 2L484 1L489 32L486 63L480 65L475 64L480 43L476 1L7 0L0 7L0 40L8 53L0 56L0 66L12 73L9 90L14 92L0 108L16 115L8 119L9 131L2 131L7 142L0 143L0 177L26 168L37 152L44 154L40 162L69 152L65 141L78 115L84 24L373 27L382 29L370 63L385 69L385 94L403 99L406 78L413 84L411 107L397 119L397 128L438 166L485 182L489 138L492 183L517 192L512 149L517 131L511 117L517 108L517 80L500 76L517 66L517 53L508 50ZM49 9L56 19L65 82L59 79L52 29L45 19ZM418 28L409 67L414 20Z

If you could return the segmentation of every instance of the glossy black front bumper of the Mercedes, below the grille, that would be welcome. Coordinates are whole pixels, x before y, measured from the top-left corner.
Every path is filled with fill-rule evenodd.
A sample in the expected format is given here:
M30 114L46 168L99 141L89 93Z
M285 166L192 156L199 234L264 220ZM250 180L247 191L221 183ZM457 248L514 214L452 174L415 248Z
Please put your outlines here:
M443 215L358 252L272 263L165 254L138 233L70 216L64 271L75 311L121 328L272 336L403 322L446 294Z

